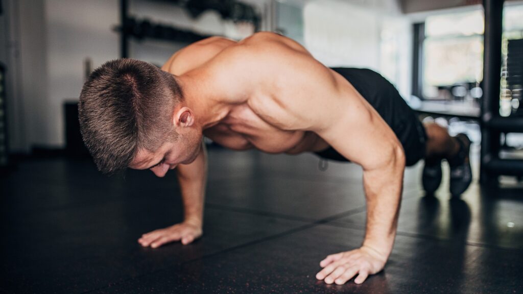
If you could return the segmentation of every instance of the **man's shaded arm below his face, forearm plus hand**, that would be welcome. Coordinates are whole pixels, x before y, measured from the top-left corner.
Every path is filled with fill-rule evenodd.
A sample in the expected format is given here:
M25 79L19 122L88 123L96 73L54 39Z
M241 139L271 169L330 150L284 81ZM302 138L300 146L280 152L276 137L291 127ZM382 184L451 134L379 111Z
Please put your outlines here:
M166 243L181 241L189 244L202 235L203 201L207 182L207 152L202 143L196 160L176 167L184 205L184 221L164 229L142 235L138 242L153 248Z

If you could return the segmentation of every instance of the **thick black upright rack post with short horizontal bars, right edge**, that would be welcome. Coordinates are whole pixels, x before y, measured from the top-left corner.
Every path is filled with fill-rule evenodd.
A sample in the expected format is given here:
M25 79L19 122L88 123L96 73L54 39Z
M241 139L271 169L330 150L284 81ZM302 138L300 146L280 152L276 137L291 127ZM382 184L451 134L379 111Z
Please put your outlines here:
M503 3L504 0L483 0L485 33L480 181L495 185L498 183L498 175L523 175L523 160L502 159L499 156L502 133L523 133L523 117L499 115Z

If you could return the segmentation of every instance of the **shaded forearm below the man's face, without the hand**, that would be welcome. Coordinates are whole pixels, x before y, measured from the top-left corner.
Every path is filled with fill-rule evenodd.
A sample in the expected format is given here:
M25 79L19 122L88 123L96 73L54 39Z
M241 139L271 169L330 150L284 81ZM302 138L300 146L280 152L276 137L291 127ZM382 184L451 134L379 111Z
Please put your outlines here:
M190 164L180 164L176 168L184 205L184 221L203 224L203 202L207 181L207 152L205 145L196 160Z

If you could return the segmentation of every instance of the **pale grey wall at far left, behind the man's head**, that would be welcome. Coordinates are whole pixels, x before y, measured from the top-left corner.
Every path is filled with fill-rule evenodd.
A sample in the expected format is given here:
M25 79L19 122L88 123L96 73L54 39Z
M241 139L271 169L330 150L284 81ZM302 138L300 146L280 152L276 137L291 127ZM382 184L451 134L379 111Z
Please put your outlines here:
M63 101L77 99L83 60L118 57L118 1L8 0L2 58L7 64L12 152L64 144Z

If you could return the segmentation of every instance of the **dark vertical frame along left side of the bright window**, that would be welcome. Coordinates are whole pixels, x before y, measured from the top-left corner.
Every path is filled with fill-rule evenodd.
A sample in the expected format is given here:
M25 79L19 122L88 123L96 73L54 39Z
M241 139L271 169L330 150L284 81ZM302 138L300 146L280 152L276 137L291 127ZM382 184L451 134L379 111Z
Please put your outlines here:
M412 51L412 95L423 99L423 42L425 23L414 24L414 48Z

